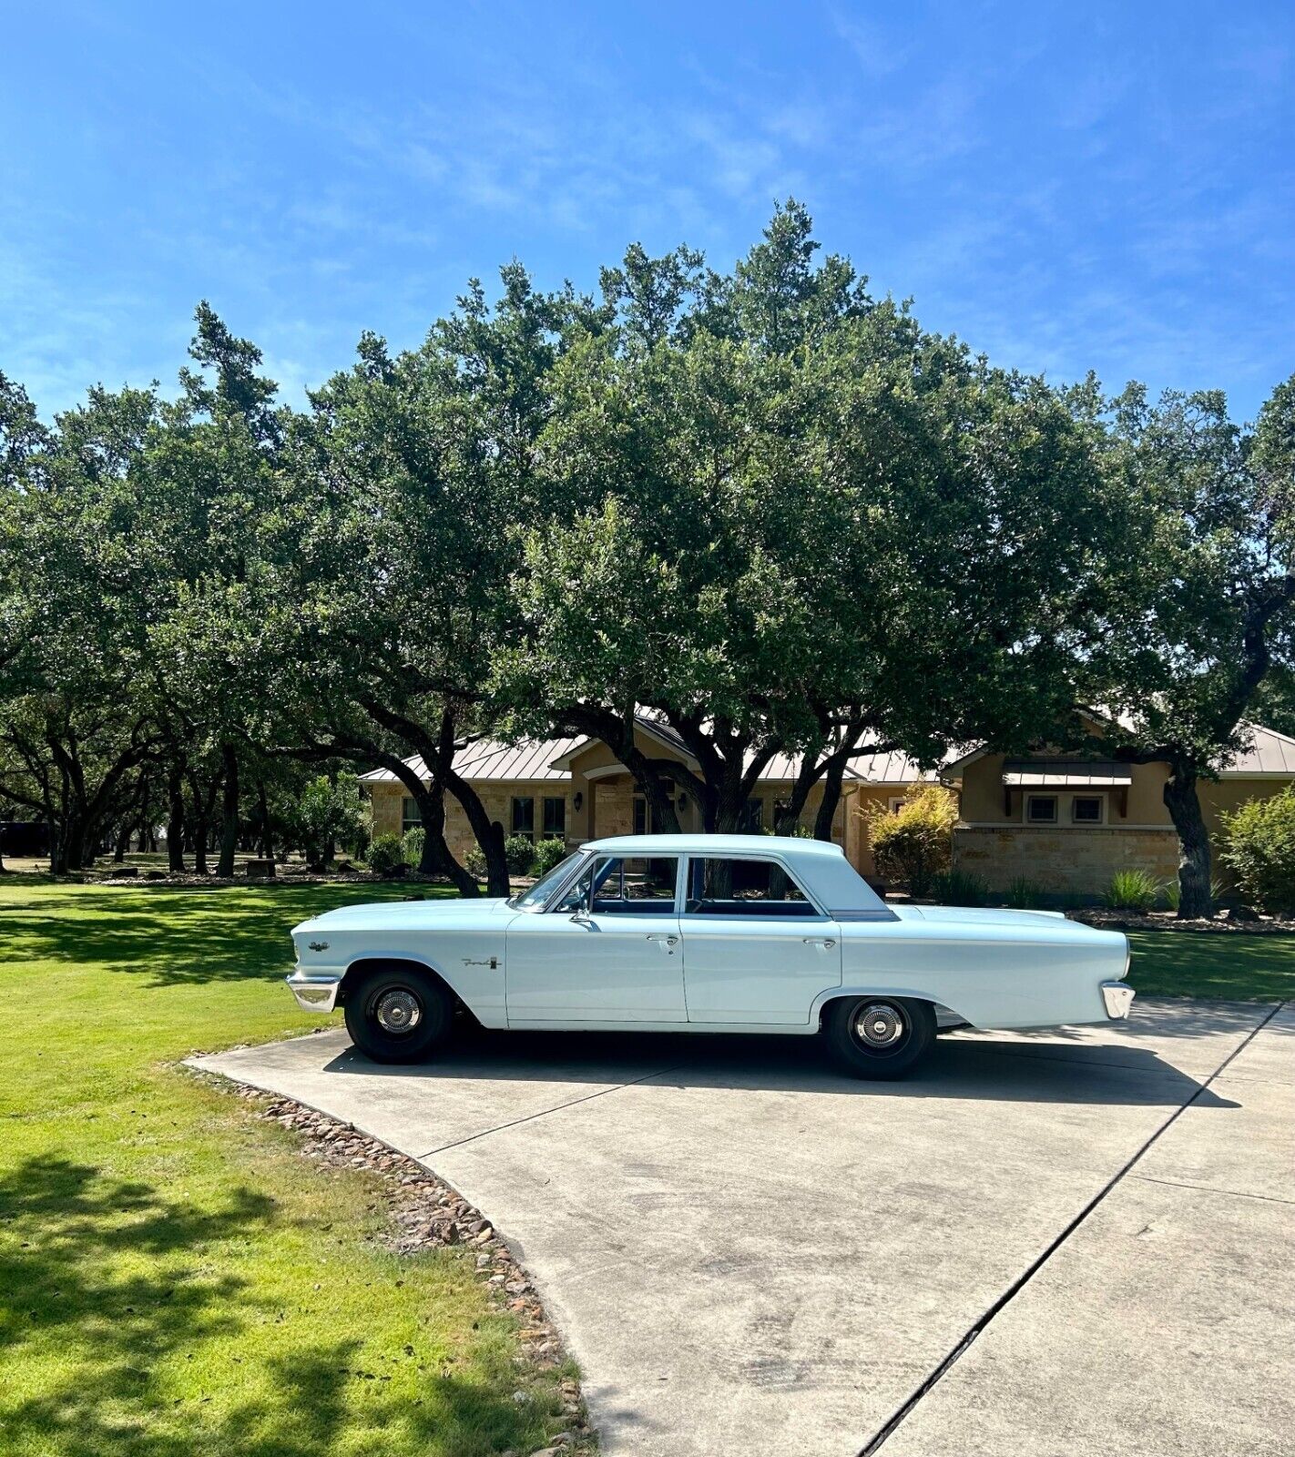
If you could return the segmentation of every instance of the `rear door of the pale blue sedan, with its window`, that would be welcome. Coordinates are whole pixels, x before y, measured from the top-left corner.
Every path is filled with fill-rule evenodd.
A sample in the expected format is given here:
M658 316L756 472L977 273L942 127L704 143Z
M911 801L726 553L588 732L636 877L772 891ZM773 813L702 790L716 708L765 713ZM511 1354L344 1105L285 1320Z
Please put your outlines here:
M689 1021L803 1024L841 985L841 930L776 860L688 860L683 985Z

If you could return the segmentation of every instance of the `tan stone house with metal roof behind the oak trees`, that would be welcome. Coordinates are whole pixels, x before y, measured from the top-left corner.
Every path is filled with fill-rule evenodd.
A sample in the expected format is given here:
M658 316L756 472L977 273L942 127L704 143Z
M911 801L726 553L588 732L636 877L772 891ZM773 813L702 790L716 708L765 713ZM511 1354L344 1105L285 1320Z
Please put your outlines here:
M1100 726L1095 726L1100 727ZM686 746L663 724L639 718L639 747L696 768ZM1100 752L1100 750L1098 750ZM422 762L408 761L420 774ZM771 829L776 807L791 793L797 761L776 756L747 803L746 829ZM462 749L454 768L472 782L491 819L505 833L530 839L554 836L568 847L607 835L650 833L647 801L634 778L597 739L546 739L503 745L482 739ZM1024 758L975 749L942 765L938 778L960 796L954 864L975 871L991 889L1026 877L1050 892L1097 895L1116 870L1141 867L1168 880L1177 871L1178 842L1161 788L1164 763L1065 758L1040 750ZM862 755L842 787L832 838L861 874L875 879L867 810L897 809L919 782L935 779L900 753ZM1250 750L1221 775L1200 785L1206 825L1216 839L1219 813L1243 800L1280 793L1295 781L1295 739L1256 728ZM374 833L395 833L418 823L418 807L389 769L360 778L373 803ZM820 798L810 797L806 822ZM701 829L693 797L674 797L679 825ZM453 798L446 801L446 839L462 860L476 841Z

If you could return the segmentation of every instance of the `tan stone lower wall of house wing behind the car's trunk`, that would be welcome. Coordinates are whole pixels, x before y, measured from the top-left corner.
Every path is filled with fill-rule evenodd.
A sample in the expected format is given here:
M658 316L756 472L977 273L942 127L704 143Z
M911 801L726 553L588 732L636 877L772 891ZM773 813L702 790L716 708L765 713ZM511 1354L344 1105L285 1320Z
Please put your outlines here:
M1148 870L1158 880L1177 876L1178 836L1173 829L960 825L953 863L980 876L991 890L1004 890L1020 876L1044 890L1098 895L1117 870Z

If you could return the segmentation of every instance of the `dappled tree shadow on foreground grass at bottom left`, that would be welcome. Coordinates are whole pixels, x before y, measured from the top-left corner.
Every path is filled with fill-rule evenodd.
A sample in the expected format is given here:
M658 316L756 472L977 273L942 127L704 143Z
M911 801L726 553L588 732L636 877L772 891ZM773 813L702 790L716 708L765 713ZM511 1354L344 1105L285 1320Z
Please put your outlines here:
M0 1180L0 1451L319 1457L358 1442L482 1457L542 1442L542 1413L508 1394L504 1355L488 1381L481 1368L428 1372L411 1402L408 1386L386 1394L380 1361L364 1370L364 1332L281 1358L230 1355L214 1393L176 1396L179 1362L197 1346L236 1352L240 1332L272 1319L246 1279L211 1272L207 1249L262 1236L272 1220L272 1201L251 1189L195 1211L66 1160L32 1158Z

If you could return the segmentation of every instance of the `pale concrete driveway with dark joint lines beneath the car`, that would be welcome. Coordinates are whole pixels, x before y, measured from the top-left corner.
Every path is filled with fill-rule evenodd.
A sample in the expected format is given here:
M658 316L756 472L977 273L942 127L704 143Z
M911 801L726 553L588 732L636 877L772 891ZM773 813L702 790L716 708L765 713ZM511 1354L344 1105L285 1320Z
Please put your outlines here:
M201 1059L487 1214L610 1457L1295 1450L1295 1007L942 1037L899 1084L801 1039L341 1032Z

